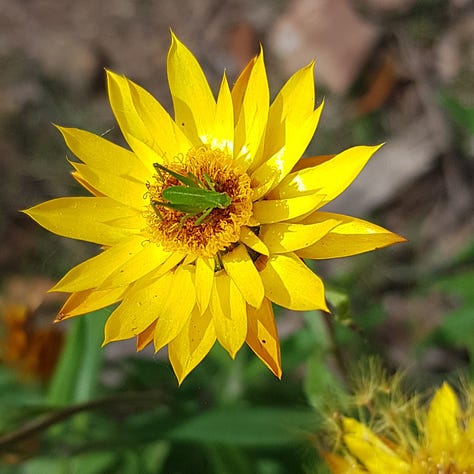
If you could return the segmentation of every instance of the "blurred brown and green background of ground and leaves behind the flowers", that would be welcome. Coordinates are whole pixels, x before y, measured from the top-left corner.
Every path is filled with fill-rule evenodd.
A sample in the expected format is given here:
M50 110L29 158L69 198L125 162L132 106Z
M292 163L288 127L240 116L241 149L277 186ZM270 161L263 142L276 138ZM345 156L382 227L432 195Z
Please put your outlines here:
M377 355L411 388L474 375L474 10L469 0L0 0L0 472L326 472L325 397ZM177 387L166 354L100 348L104 312L46 294L96 246L19 209L83 194L52 126L123 143L104 68L168 110L170 28L211 87L264 47L272 95L316 59L307 155L386 142L335 212L408 242L318 262L334 314L277 309L284 375L216 347Z

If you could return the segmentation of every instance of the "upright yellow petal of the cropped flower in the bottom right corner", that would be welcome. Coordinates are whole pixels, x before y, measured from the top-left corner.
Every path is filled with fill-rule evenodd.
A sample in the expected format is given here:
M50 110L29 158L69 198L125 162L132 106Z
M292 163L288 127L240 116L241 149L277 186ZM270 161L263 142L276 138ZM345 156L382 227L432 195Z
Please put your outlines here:
M445 382L431 401L426 419L425 442L433 463L447 461L450 447L461 437L461 408L453 389Z

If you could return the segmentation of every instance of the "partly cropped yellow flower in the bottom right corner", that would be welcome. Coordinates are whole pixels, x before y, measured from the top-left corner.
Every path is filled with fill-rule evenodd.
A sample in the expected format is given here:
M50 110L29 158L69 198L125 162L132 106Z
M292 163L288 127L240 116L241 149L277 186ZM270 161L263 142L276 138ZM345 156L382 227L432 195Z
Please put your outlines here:
M466 405L463 411L444 383L428 410L415 409L411 419L395 414L378 434L354 418L343 418L346 453L324 457L335 474L473 474L474 403L469 394Z

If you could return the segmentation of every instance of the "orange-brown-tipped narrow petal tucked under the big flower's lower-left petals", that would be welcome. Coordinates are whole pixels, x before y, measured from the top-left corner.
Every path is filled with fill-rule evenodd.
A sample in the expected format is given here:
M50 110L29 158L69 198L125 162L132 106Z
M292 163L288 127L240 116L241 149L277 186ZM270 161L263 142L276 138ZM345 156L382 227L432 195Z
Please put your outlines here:
M111 290L105 291L91 289L73 293L59 310L55 322L90 313L117 303L124 297L127 288L128 287L123 286L121 288L112 288Z

